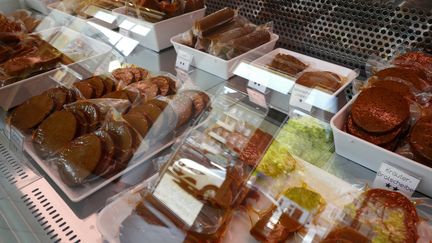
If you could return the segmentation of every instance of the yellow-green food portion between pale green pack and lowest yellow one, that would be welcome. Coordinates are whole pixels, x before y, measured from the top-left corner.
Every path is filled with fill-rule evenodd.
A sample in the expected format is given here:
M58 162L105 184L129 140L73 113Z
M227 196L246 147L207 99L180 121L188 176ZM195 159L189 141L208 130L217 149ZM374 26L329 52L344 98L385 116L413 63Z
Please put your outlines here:
M259 163L257 171L270 177L279 177L292 172L295 167L296 161L289 153L287 147L277 141L273 141Z

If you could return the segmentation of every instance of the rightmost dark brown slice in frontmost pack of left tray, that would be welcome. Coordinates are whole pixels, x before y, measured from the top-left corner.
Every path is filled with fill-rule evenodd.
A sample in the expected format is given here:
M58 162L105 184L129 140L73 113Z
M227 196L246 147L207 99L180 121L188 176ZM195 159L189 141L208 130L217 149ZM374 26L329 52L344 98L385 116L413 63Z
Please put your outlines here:
M105 125L107 131L115 145L115 163L125 164L133 155L134 137L129 126L122 121L109 121Z

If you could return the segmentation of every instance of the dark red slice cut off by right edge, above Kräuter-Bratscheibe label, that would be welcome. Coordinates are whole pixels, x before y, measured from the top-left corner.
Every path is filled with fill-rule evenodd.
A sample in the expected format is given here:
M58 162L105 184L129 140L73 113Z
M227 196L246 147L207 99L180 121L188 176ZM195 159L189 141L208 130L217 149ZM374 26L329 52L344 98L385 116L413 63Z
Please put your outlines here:
M417 122L409 136L409 143L416 155L432 164L432 123Z

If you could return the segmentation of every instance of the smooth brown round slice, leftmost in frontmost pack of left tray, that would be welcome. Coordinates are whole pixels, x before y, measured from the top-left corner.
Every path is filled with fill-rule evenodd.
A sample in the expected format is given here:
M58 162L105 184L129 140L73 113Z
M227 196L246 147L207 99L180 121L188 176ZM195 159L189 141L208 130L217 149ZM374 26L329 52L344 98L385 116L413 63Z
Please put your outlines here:
M46 118L33 134L33 141L43 156L56 152L77 134L77 119L69 111L56 111Z

